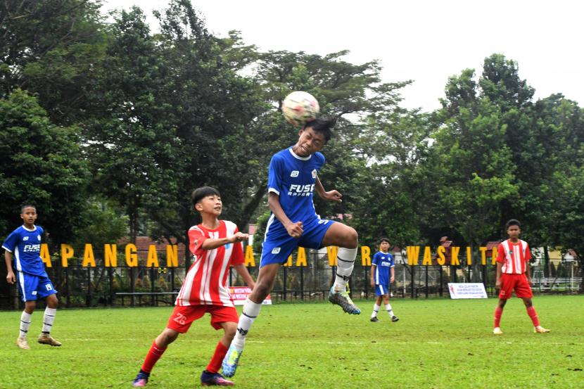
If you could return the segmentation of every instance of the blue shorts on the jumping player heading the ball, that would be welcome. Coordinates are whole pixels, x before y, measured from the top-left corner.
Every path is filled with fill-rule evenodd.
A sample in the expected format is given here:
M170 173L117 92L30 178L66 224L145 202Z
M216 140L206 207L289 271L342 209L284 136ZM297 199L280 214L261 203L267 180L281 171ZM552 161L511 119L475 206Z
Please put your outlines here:
M270 222L273 222L273 220L268 222L266 238L264 243L262 243L260 267L266 264L281 264L286 262L292 251L298 246L304 248L322 248L324 234L336 223L333 220L315 217L310 222L303 222L303 234L300 238L293 238L288 235L288 231L286 231L280 222L275 222L274 228L270 227Z

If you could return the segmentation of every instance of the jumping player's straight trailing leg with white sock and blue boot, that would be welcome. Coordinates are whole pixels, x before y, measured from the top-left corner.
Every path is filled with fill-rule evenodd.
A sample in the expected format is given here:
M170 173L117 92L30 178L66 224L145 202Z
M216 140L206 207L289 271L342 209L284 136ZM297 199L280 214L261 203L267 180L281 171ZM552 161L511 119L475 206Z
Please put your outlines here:
M243 353L243 346L246 343L248 331L255 318L260 314L262 301L267 295L269 295L272 288L274 288L274 281L276 280L276 275L278 274L280 266L279 263L272 263L260 267L258 281L255 281L255 287L248 296L246 305L243 305L243 311L241 312L239 323L237 324L237 332L231 345L229 345L227 355L225 355L225 358L223 359L222 369L223 375L226 377L232 377L235 375L239 358Z

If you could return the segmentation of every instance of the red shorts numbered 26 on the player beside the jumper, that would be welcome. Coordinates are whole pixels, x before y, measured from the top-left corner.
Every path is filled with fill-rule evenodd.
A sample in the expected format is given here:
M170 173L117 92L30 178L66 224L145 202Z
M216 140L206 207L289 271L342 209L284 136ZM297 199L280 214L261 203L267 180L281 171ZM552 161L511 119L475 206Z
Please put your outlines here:
M232 321L237 323L237 311L235 307L224 307L223 305L188 305L186 307L174 307L170 319L168 319L167 327L179 333L189 331L189 327L196 319L201 319L203 314L209 312L211 314L211 326L218 330L221 328L221 323Z

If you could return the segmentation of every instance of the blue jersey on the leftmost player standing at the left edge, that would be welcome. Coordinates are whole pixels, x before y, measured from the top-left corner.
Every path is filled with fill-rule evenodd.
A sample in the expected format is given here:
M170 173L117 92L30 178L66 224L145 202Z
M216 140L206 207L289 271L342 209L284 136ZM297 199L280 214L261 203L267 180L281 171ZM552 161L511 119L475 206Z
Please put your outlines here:
M46 276L40 255L43 233L44 230L39 226L34 226L32 230L20 226L12 231L12 234L8 235L6 241L2 243L4 250L14 253L15 271Z

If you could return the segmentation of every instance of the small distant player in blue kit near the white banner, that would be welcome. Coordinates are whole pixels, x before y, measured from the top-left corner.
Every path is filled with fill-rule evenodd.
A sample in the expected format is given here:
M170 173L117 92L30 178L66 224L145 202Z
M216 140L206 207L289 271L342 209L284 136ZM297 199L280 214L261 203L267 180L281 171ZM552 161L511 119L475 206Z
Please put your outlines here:
M386 306L386 311L391 317L391 321L398 321L398 317L393 314L391 304L389 303L389 286L394 280L395 264L393 263L393 255L389 253L389 239L381 238L379 241L379 251L373 256L371 262L371 286L375 288L375 295L377 300L373 305L373 313L371 314L371 321L379 321L377 319L377 312L381 306L381 300Z

